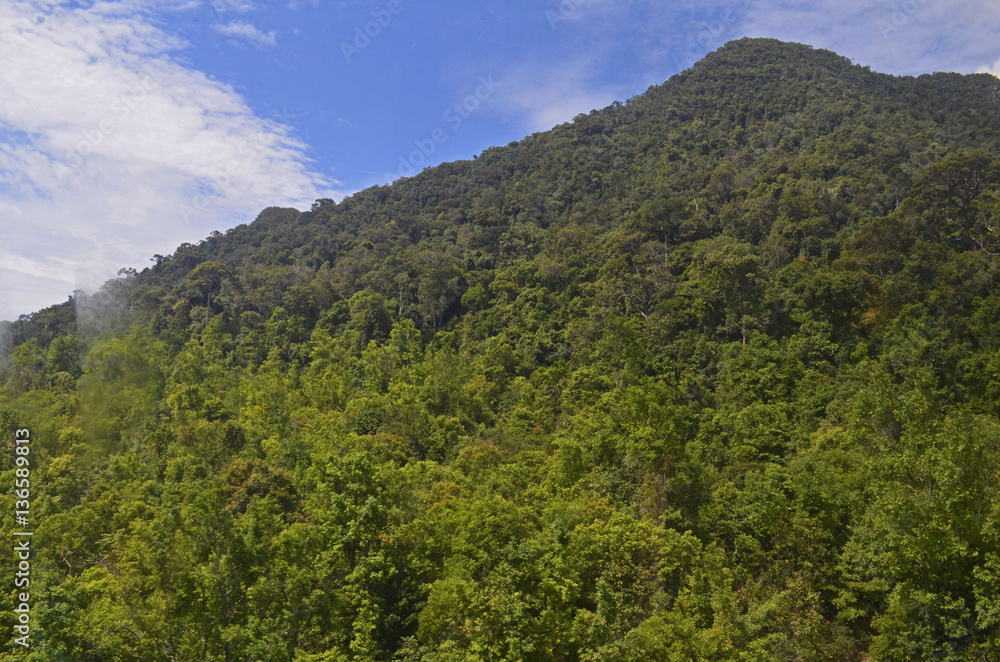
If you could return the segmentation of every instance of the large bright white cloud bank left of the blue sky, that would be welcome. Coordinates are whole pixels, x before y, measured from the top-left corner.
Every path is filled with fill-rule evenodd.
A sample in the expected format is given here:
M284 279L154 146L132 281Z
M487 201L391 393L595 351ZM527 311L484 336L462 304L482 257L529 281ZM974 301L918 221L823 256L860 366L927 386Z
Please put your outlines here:
M287 126L171 59L182 46L134 4L0 3L0 319L340 197Z

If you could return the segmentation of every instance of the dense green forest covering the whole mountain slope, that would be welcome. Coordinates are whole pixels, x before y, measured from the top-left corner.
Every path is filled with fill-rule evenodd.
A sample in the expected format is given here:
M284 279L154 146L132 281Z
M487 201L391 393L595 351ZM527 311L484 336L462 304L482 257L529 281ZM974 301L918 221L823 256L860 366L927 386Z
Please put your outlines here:
M153 262L6 330L0 660L1000 661L993 76L744 39Z

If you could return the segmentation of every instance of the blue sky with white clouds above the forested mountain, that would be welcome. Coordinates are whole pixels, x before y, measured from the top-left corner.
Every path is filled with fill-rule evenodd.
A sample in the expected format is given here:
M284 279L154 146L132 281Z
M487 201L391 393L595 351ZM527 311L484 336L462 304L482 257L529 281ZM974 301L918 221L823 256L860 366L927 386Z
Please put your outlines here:
M0 0L0 319L659 84L726 41L1000 73L994 0Z

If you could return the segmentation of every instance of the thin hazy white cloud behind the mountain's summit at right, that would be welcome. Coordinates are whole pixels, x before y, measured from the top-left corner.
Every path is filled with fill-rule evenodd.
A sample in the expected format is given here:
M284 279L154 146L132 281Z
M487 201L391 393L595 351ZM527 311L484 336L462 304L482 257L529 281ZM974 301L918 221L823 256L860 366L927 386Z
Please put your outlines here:
M919 74L988 71L996 55L1000 4L995 0L878 4L870 0L549 0L543 10L553 39L570 44L542 62L535 55L502 74L505 105L532 130L624 100L662 83L705 54L741 36L775 37L827 48L876 71ZM582 44L582 48L573 48ZM627 57L644 71L622 77ZM606 82L609 70L617 80ZM1000 62L992 71L1000 70Z

